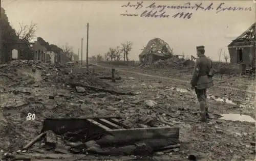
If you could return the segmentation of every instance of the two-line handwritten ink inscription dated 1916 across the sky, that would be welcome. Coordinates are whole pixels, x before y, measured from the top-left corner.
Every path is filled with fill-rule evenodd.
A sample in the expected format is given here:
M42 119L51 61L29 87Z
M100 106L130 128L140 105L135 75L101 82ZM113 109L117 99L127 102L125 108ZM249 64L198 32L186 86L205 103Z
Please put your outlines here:
M121 6L122 8L142 10L140 14L129 13L127 10L124 13L121 13L121 16L140 16L140 17L154 17L154 18L183 18L190 19L193 16L193 11L216 11L216 14L225 11L252 11L251 7L230 7L225 3L219 4L203 4L203 3L185 3L183 5L157 5L156 2L153 2L150 5L144 5L143 1L131 3L128 2L125 5ZM179 12L169 15L168 10L179 10ZM184 10L190 10L184 12ZM183 11L183 12L182 12Z

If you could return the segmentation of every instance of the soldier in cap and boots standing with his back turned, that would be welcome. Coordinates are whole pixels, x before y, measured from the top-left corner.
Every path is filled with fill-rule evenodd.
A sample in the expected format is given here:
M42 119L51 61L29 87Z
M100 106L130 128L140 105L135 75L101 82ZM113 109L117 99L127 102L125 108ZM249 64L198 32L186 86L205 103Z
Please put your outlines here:
M212 61L204 55L204 46L197 46L197 56L194 73L191 79L191 88L195 89L198 101L200 103L201 121L206 121L209 118L208 105L206 103L208 88L214 86L212 76L214 70L212 69Z

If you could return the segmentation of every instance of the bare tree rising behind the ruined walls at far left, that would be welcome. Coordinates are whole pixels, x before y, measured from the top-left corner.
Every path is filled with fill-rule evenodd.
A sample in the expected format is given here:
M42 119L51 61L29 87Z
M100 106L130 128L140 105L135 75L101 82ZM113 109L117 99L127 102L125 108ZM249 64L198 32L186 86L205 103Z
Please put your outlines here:
M19 23L19 30L15 30L19 39L24 41L31 41L35 37L36 24L31 22L30 25Z

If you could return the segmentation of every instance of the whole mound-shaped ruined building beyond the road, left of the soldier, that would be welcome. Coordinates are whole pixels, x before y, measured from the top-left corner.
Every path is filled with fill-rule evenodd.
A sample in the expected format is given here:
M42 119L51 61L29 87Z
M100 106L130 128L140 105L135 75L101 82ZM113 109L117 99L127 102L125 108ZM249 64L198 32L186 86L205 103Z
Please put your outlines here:
M173 51L169 45L160 38L155 38L148 41L139 55L139 60L142 64L152 64L158 60L165 60L171 57L173 57Z

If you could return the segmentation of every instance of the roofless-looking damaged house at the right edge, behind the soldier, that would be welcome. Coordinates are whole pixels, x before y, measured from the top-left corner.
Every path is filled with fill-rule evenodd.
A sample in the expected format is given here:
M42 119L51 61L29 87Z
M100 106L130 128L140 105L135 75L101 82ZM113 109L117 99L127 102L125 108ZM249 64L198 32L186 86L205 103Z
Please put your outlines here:
M228 45L230 63L255 68L255 23Z

